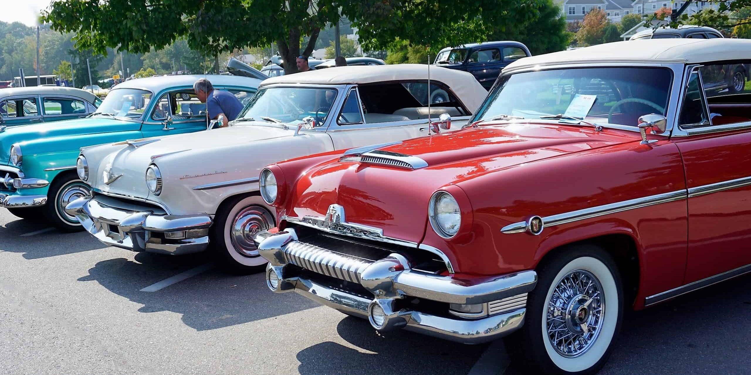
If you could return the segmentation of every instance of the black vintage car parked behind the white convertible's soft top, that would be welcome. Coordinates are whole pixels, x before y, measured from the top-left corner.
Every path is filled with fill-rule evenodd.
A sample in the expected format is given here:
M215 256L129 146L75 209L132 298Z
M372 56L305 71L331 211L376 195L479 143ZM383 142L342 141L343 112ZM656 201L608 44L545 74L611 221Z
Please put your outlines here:
M523 43L510 40L472 43L441 49L433 65L468 71L485 89L490 89L503 67L529 55Z

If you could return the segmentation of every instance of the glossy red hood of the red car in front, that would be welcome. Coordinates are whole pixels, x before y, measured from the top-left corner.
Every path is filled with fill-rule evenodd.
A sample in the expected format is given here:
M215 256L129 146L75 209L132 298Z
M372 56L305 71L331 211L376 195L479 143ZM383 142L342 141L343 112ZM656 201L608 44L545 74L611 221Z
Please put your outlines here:
M420 242L430 196L488 172L640 139L638 133L561 124L502 124L468 128L410 139L379 148L409 154L428 166L394 166L339 161L324 163L302 175L291 191L288 216L324 217L334 203L345 209L348 223L383 229L384 236Z

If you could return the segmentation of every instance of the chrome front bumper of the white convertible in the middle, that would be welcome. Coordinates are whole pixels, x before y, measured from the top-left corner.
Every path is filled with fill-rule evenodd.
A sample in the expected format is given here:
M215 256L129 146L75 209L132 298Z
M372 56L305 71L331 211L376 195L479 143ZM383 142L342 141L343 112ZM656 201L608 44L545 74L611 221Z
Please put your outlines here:
M212 219L205 214L141 211L92 196L74 200L65 211L76 216L96 239L116 248L178 255L198 253L209 245Z

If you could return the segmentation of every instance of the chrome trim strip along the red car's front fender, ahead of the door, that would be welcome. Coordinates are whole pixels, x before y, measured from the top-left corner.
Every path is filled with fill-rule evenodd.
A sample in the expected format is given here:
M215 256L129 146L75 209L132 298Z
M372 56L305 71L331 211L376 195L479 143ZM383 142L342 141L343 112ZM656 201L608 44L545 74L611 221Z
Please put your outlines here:
M674 202L676 200L686 199L687 190L676 190L669 193L644 196L643 198L624 200L623 202L608 203L607 205L598 205L596 207L584 208L577 211L554 214L542 218L545 227L573 223L578 220L587 220L593 217L603 216L606 214L615 214L632 210L635 208L658 205L660 203ZM526 229L526 221L508 224L501 228L502 233L522 233Z

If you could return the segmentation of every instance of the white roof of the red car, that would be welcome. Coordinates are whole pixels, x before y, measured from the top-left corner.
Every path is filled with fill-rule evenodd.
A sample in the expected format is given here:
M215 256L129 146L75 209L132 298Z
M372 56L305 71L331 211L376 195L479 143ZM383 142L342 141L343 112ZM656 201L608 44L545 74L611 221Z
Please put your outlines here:
M680 62L751 60L751 39L641 39L598 44L569 51L520 58L503 73L543 65L597 62Z

